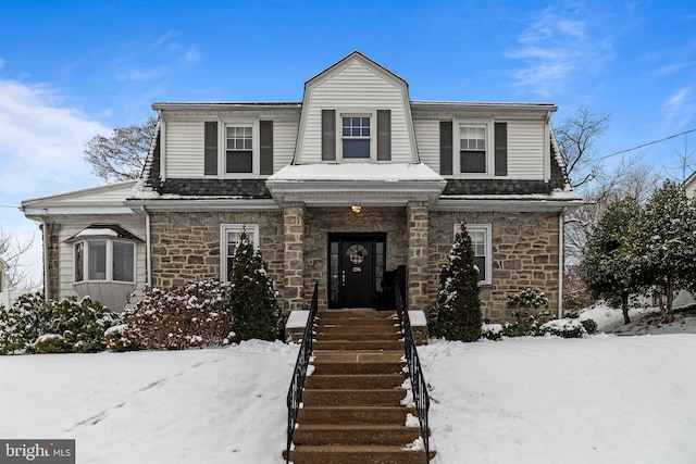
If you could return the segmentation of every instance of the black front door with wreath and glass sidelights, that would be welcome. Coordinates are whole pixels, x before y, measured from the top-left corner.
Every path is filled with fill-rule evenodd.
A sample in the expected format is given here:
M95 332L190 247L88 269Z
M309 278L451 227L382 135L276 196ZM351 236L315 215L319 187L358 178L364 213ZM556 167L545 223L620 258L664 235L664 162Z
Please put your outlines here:
M385 265L384 234L330 237L330 308L375 308Z

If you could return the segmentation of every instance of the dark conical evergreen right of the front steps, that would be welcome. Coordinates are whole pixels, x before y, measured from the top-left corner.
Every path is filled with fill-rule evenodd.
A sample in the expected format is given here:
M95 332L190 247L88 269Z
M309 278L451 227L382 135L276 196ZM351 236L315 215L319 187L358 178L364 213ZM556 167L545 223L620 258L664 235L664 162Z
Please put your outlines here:
M478 268L465 224L455 237L449 263L439 276L433 335L447 340L475 341L481 336Z

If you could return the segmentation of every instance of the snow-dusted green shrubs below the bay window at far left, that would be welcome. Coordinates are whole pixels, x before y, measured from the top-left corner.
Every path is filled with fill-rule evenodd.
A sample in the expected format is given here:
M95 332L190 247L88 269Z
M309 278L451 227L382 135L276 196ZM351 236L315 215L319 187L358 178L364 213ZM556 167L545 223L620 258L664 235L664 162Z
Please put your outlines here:
M89 298L47 301L27 293L0 312L0 354L103 351L104 330L121 322Z

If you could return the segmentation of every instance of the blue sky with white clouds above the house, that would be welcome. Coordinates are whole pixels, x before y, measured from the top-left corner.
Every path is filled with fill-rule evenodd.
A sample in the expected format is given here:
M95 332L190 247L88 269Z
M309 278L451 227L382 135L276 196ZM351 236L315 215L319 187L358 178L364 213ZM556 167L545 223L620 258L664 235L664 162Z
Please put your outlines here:
M413 100L609 114L599 155L696 129L692 2L2 0L0 226L35 235L39 276L38 228L7 206L102 184L82 159L92 136L156 101L300 101L353 50ZM637 153L676 166L685 149L696 133Z

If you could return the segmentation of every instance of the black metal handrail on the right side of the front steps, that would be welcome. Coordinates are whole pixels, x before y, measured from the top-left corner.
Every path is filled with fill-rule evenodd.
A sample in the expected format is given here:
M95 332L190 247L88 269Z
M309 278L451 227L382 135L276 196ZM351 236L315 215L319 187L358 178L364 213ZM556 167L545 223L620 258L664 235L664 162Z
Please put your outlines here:
M405 277L397 276L397 279L398 278ZM413 330L411 329L411 318L409 317L408 306L401 298L400 288L401 285L394 286L394 305L396 306L396 314L399 318L401 333L403 334L403 354L409 368L411 393L413 396L413 403L415 404L415 413L418 414L418 422L421 426L421 436L423 437L423 447L425 448L425 462L430 463L431 447L427 412L431 409L431 399L427 394L427 384L425 383L421 361L418 358L418 351L415 349L415 340L413 339Z

